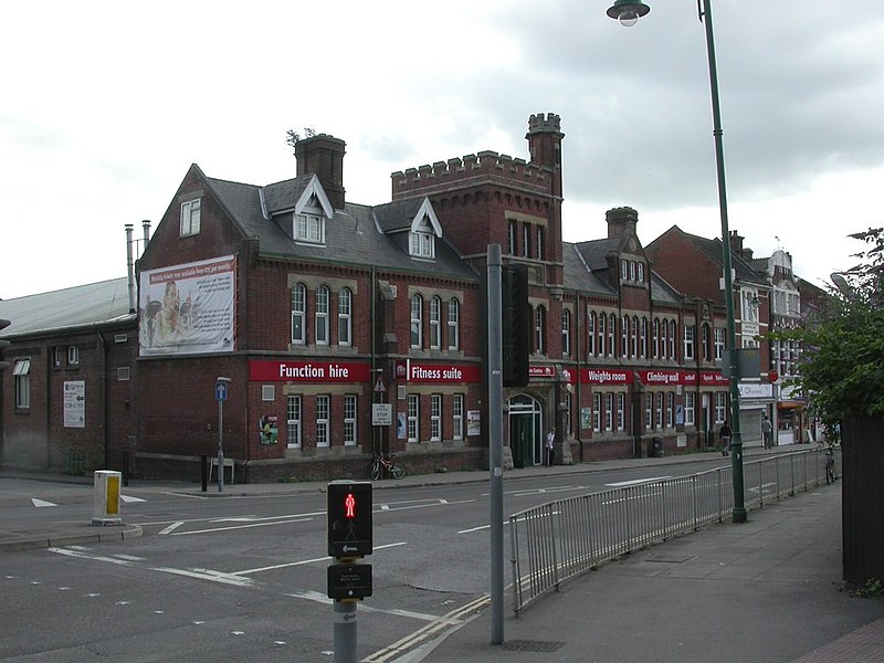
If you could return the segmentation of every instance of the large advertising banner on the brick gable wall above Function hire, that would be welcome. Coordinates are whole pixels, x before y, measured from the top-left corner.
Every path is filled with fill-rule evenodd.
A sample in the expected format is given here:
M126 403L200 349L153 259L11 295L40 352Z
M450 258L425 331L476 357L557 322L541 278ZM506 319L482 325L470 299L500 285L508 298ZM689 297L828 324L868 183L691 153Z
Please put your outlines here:
M139 354L233 351L235 281L234 255L141 272Z

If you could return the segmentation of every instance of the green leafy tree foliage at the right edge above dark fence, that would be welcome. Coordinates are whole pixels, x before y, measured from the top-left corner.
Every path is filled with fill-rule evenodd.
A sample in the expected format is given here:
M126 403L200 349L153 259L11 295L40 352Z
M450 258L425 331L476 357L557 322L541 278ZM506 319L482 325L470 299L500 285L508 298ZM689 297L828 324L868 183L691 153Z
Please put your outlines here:
M798 333L799 385L825 423L884 414L884 229L850 235L867 249L833 274L823 306Z

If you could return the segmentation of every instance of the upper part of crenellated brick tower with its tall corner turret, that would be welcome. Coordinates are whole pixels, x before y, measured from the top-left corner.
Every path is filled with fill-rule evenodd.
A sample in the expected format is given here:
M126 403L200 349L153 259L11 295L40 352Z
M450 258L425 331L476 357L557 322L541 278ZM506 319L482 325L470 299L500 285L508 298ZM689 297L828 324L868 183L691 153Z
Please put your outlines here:
M392 200L429 197L445 239L484 269L488 244L504 262L534 267L536 285L560 286L561 119L528 118L530 160L481 151L392 173Z

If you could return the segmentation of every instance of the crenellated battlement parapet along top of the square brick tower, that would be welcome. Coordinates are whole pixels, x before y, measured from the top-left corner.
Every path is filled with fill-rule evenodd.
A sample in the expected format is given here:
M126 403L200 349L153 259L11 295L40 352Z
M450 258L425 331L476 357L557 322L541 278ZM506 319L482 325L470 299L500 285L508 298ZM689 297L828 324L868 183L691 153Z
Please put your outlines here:
M546 186L547 172L547 168L537 164L486 150L448 161L435 161L432 166L425 164L418 168L407 168L404 171L393 172L390 177L396 196L428 187L461 182L477 176L508 179L518 185L524 185L527 180L536 186Z

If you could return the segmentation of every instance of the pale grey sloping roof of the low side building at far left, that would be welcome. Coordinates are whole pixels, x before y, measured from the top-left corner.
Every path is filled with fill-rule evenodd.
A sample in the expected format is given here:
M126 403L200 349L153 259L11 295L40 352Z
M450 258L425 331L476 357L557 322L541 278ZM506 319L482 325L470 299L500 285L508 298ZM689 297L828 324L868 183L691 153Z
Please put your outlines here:
M96 327L134 320L129 313L128 280L113 278L51 293L0 301L0 318L12 324L4 338Z

